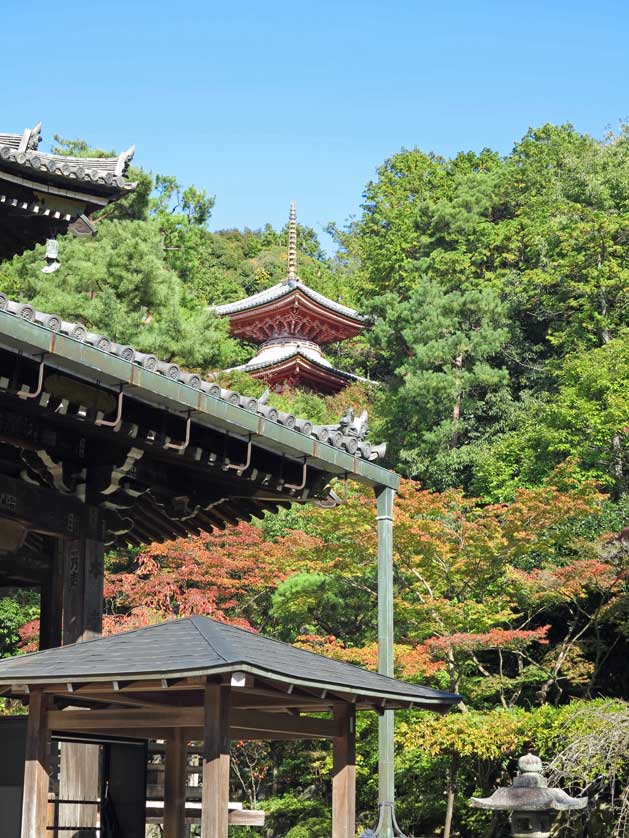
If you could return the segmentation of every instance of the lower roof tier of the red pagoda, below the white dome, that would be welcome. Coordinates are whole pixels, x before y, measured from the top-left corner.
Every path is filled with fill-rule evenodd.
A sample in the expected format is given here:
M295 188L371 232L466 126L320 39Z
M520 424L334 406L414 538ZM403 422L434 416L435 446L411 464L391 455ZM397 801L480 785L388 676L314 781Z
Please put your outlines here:
M330 363L314 356L303 348L293 348L267 361L249 362L234 370L246 372L253 378L266 381L270 386L289 383L291 386L311 384L320 392L338 393L353 381L367 382L369 379L346 370L339 370Z

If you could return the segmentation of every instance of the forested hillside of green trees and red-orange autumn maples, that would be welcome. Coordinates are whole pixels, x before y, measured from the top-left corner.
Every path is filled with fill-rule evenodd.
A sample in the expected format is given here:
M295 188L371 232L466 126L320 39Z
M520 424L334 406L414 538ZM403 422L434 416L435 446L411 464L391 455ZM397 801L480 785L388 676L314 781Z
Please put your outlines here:
M213 197L134 177L95 239L60 240L57 273L36 248L0 266L1 289L204 374L242 362L251 347L208 305L283 278L286 230L210 232ZM329 357L373 384L272 399L315 421L368 407L405 478L399 674L465 696L448 717L399 714L398 819L414 835L506 836L466 801L533 746L587 789L590 838L628 834L629 128L601 141L544 125L506 156L402 150L329 231L334 256L300 228L299 274L371 316ZM108 630L205 613L375 666L373 501L336 491L336 510L109 556ZM28 596L0 600L0 653L28 644L36 616ZM370 825L376 723L361 725ZM323 746L247 745L234 761L233 794L267 809L269 838L329 835ZM560 834L585 835L582 820Z

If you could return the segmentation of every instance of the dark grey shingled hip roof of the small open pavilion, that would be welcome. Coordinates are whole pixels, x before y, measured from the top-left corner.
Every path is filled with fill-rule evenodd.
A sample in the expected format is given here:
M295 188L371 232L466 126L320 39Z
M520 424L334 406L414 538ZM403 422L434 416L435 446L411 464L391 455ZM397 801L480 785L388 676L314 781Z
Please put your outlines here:
M332 660L208 617L189 617L0 662L0 684L148 680L244 671L293 685L447 710L459 696Z

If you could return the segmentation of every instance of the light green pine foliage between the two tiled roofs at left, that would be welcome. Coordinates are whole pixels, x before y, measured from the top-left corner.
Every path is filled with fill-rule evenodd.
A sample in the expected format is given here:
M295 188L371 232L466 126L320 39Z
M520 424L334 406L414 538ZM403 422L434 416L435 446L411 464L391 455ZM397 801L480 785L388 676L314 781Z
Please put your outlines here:
M63 236L59 254L52 279L41 272L41 246L3 264L3 289L164 360L193 368L226 363L234 347L227 324L198 306L164 264L155 222L103 221L94 239Z

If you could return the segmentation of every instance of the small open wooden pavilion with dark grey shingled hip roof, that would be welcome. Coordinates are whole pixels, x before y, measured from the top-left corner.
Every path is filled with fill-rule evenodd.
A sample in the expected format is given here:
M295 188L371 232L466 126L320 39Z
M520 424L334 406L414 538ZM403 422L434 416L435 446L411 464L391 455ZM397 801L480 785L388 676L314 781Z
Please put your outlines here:
M0 691L29 704L21 838L51 829L51 733L86 732L166 740L164 838L184 835L191 740L203 743L201 838L228 835L231 740L332 740L332 838L354 838L356 712L447 712L459 700L207 617L3 661ZM141 786L133 804L139 830Z

